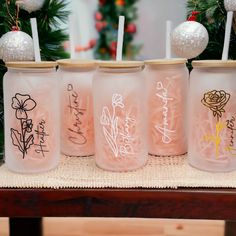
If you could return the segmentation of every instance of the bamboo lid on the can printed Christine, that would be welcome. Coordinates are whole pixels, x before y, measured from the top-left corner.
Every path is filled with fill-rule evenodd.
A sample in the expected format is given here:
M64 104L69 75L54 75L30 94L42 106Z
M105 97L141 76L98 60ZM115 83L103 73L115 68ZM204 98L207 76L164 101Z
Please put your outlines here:
M76 59L63 59L58 60L57 63L62 68L88 68L96 66L95 60L76 60Z

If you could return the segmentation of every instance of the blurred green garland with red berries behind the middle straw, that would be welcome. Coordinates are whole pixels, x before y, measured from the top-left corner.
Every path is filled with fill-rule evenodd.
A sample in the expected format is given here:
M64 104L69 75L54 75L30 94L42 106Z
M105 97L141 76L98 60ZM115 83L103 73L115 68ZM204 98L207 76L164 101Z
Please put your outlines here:
M95 48L95 58L109 60L115 59L117 46L118 18L125 16L125 33L123 55L126 59L134 59L140 46L133 45L136 33L134 20L137 18L137 0L99 0L96 12L96 29L99 38Z

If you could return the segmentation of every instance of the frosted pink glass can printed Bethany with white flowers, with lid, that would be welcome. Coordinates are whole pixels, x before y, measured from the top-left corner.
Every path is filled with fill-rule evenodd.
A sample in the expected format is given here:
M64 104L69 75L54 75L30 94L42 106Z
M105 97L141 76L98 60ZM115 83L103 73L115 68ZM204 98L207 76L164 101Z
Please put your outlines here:
M93 80L95 159L109 171L145 165L146 101L143 62L100 62Z

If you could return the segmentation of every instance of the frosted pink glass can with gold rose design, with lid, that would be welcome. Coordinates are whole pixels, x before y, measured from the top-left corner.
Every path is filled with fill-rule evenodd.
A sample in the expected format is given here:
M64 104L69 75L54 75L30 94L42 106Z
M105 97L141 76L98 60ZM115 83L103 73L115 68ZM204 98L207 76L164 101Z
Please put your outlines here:
M193 61L188 104L189 163L236 169L236 61Z

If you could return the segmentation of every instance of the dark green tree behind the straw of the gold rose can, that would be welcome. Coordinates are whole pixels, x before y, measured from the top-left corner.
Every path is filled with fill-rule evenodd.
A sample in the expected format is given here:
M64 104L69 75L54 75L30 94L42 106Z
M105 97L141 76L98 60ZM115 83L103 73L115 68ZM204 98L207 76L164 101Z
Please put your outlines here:
M209 33L209 44L206 50L196 59L221 59L227 12L224 0L188 0L188 15L198 12L197 21L203 24ZM236 59L236 19L234 17L233 29L229 48L229 59Z

